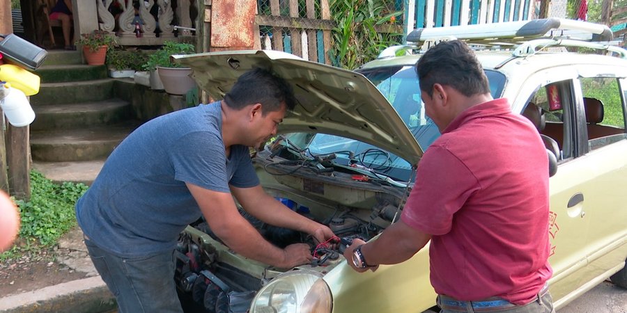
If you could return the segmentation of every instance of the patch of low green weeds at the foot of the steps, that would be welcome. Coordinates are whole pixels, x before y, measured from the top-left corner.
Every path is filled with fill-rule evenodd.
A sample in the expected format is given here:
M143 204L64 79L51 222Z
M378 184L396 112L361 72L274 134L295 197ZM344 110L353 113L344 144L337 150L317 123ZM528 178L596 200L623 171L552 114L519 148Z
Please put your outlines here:
M15 245L0 254L0 262L17 259L37 250L54 246L76 225L74 205L85 193L85 184L55 184L40 172L31 171L31 200L16 200L22 224Z

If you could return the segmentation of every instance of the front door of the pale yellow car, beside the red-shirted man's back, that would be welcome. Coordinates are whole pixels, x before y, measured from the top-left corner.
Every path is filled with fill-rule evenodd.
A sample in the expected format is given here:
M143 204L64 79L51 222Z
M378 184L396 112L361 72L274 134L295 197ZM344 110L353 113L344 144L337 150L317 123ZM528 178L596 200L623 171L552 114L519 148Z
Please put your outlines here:
M522 111L529 102L541 106L545 127L541 133L559 143L557 173L550 177L549 262L553 268L550 291L556 305L571 291L585 284L589 218L584 214L589 202L584 195L594 191L587 156L580 147L587 145L578 123L585 119L576 109L574 91L577 73L572 67L554 67L529 75L514 97L513 108Z

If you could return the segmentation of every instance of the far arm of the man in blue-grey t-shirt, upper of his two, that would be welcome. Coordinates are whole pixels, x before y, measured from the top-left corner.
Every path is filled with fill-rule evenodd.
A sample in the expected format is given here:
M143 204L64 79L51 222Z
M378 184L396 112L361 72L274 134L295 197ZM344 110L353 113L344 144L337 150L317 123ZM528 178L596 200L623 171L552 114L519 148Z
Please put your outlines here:
M265 223L311 234L318 242L334 236L329 227L297 214L265 193L259 185L250 188L231 186L231 192L249 214Z

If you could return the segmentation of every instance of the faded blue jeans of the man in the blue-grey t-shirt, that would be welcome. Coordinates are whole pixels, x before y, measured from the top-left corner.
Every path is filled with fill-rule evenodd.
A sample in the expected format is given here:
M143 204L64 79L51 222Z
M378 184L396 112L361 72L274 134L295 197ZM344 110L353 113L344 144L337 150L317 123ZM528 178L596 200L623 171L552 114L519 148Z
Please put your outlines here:
M118 312L182 313L172 252L145 257L118 257L85 238L85 245L100 277L118 301Z

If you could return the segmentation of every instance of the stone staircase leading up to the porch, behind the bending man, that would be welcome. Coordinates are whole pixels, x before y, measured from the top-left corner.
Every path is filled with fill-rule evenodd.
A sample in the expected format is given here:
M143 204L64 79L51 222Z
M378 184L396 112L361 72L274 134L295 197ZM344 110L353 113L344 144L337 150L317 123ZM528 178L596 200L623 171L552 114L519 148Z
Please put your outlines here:
M114 147L141 122L116 97L104 65L82 64L79 51L49 51L31 96L33 168L55 182L91 184ZM128 79L127 79L128 80Z

